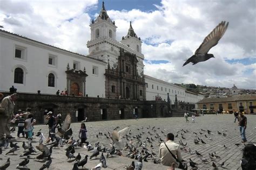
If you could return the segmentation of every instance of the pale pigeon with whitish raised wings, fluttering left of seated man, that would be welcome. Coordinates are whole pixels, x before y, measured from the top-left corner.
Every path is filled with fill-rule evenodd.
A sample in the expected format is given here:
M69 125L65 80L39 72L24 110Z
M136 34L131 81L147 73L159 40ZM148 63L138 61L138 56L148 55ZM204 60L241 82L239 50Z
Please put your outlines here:
M124 148L124 141L123 136L125 136L127 130L129 129L129 126L126 128L120 130L120 131L113 131L110 138L113 141L113 145L116 146L117 150L122 150Z

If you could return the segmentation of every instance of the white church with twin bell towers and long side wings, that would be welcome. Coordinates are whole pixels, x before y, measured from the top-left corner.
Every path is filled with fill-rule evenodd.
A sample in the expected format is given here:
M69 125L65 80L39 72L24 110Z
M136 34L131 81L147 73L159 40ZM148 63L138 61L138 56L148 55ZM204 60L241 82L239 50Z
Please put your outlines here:
M66 90L69 95L136 100L160 96L166 101L169 93L172 104L176 97L188 103L203 99L202 95L144 75L142 41L131 23L127 35L118 41L117 26L107 16L104 4L90 27L87 56L0 30L0 91L15 86L21 93L40 90L54 95L57 90Z

